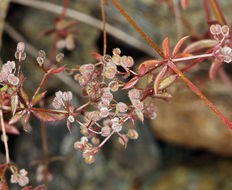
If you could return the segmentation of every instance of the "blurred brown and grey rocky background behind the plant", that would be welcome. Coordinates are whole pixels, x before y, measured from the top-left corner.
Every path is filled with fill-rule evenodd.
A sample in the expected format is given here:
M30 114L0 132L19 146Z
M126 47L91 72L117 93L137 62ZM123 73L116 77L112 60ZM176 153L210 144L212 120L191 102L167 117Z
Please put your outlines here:
M136 23L151 37L161 44L169 36L171 45L177 42L175 17L166 4L156 0L118 0ZM1 0L1 3L3 0ZM5 1L7 2L7 1ZM62 5L61 0L47 2ZM9 3L9 2L8 2ZM229 0L220 1L227 21L231 22ZM1 5L1 4L0 4ZM54 36L39 37L45 30L54 27L54 14L15 3L9 4L7 17L4 19L36 49L49 52ZM101 19L99 0L72 0L69 7L94 18ZM184 18L199 33L207 29L201 1L189 1ZM2 20L4 18L1 11ZM141 39L138 33L128 24L118 11L108 3L106 8L107 22L127 34ZM2 24L0 22L0 24ZM65 53L64 62L68 67L94 61L90 52L102 51L102 32L92 26L79 23L80 33L75 41L75 49ZM1 29L1 27L0 27ZM0 31L2 32L2 30ZM184 29L184 34L189 34ZM3 62L12 60L17 42L8 33L3 34L0 57ZM151 58L150 55L108 36L108 53L112 48L120 47L122 54L131 55L135 62ZM155 54L154 54L155 56ZM232 97L227 87L217 79L209 82L207 70L209 63L196 67L188 77L200 87L203 93L232 121ZM231 73L230 65L227 71ZM27 77L26 89L29 93L37 87L42 72L34 57L28 53L23 65ZM62 81L52 78L49 83L47 100L54 92L70 89ZM130 142L124 150L117 138L107 143L97 156L94 164L84 163L79 152L73 149L73 143L79 139L79 128L72 127L69 134L65 123L47 125L49 151L53 156L61 156L62 161L51 163L53 180L50 189L83 189L83 190L121 190L121 189L155 189L155 190L230 190L232 189L232 132L209 110L209 108L189 90L181 80L170 89L173 99L170 102L153 100L157 105L157 118L137 123L139 139ZM81 104L80 95L76 94L76 104ZM11 158L20 168L29 170L30 184L36 182L36 168L31 166L34 159L41 157L42 145L40 124L34 118L30 123L31 132L22 131L20 136L10 136ZM21 128L21 126L19 126ZM1 151L3 145L1 145ZM18 189L12 185L10 189Z

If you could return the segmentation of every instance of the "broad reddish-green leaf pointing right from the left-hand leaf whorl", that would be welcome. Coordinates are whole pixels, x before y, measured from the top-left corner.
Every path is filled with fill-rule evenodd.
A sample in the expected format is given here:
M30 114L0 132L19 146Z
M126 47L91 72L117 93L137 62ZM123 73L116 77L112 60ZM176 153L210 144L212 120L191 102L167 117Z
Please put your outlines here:
M31 110L31 111L39 120L44 122L55 122L65 119L66 117L64 114L51 115L50 113L47 112L35 111L35 110Z

